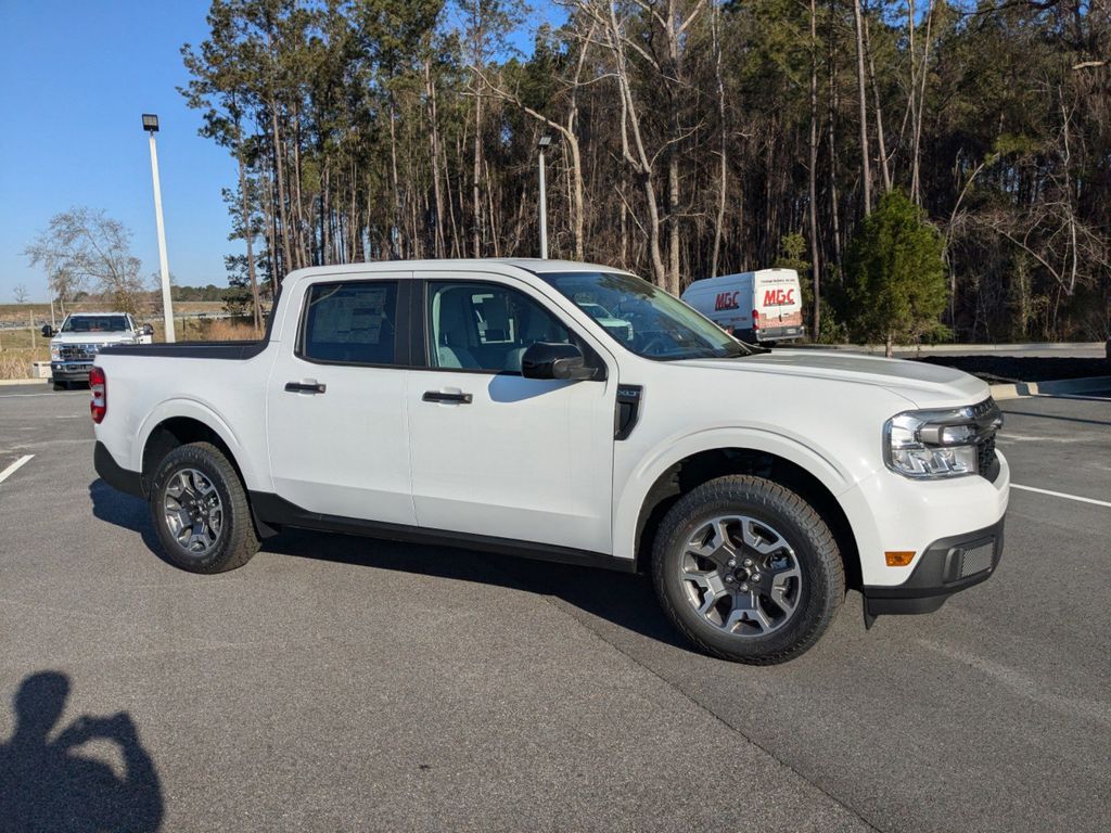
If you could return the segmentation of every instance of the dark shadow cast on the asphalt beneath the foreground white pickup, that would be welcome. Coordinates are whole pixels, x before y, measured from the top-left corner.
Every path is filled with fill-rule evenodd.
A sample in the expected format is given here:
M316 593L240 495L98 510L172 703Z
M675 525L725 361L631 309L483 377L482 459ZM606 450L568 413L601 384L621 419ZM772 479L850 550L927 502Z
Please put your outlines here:
M147 549L166 561L147 503L117 492L102 480L94 480L89 484L89 496L92 499L92 513L96 518L138 532ZM262 550L551 595L627 630L688 649L687 643L664 619L651 583L641 575L456 548L293 529L264 541Z

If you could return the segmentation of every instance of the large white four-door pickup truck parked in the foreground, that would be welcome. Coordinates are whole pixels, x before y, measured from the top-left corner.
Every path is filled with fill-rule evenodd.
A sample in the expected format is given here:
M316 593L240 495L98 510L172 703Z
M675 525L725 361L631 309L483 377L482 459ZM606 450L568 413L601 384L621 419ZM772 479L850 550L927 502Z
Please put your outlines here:
M610 267L306 269L263 340L111 348L91 385L97 471L194 572L286 526L643 571L700 649L774 663L847 588L929 612L1002 551L983 382L747 348Z

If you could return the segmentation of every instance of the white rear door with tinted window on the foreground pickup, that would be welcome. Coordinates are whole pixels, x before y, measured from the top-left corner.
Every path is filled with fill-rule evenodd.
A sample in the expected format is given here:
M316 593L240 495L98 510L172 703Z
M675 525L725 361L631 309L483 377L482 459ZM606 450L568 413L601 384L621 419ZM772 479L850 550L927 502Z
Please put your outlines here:
M310 512L416 523L406 380L410 272L299 288L267 387L274 490Z

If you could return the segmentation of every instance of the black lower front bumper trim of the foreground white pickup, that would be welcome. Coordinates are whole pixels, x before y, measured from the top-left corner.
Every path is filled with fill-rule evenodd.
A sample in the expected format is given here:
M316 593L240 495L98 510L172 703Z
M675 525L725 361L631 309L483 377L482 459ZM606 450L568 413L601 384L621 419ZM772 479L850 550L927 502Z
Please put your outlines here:
M865 584L861 588L865 622L887 614L932 613L953 593L990 578L1003 554L1003 520L934 541L902 584Z

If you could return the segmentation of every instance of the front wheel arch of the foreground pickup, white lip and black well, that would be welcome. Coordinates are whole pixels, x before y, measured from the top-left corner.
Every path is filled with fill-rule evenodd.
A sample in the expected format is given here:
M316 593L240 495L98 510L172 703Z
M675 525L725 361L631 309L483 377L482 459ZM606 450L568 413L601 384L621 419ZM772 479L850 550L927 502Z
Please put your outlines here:
M675 446L679 451L679 446ZM638 478L639 489L627 489L619 504L614 524L614 554L634 554L638 570L647 566L655 529L668 509L683 494L725 474L754 474L780 483L807 500L830 526L844 562L848 586L861 583L860 555L852 523L837 498L849 483L839 473L805 464L798 454L769 450L765 444L712 443L705 448L672 454L668 462L653 465L647 476ZM630 492L634 492L631 495ZM631 505L630 505L631 504ZM635 515L629 511L635 511ZM628 555L625 555L628 558Z

